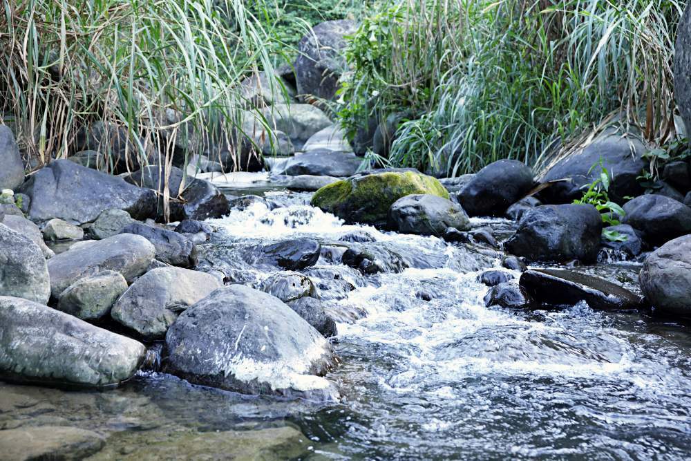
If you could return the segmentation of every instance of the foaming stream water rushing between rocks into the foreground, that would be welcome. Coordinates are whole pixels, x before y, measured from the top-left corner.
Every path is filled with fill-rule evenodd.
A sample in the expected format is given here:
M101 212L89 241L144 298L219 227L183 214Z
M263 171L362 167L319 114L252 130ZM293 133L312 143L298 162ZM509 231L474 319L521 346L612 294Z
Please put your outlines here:
M485 308L477 274L499 265L492 250L343 225L307 205L309 194L267 198L279 207L256 204L211 221L220 232L200 248L202 266L258 285L270 269L248 265L238 250L296 237L321 241L323 256L305 273L338 320L334 349L342 364L328 379L341 389L340 402L248 397L148 372L108 393L0 387L0 395L31 403L9 413L0 406L0 428L68 422L109 435L104 453L114 458L181 431L285 424L309 438L301 456L308 459L690 455L687 326L595 312L585 303L533 312ZM510 232L504 220L475 225ZM366 230L376 240L368 245L401 255L410 268L363 276L334 264L339 238L354 230ZM578 270L636 290L634 263Z

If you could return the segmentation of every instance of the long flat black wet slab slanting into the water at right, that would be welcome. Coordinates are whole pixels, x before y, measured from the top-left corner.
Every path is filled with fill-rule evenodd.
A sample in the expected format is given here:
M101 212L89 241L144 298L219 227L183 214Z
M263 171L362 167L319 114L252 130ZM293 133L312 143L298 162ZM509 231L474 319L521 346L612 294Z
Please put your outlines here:
M637 309L642 303L640 297L620 285L569 270L528 270L519 283L533 299L549 305L585 301L596 310L627 310Z

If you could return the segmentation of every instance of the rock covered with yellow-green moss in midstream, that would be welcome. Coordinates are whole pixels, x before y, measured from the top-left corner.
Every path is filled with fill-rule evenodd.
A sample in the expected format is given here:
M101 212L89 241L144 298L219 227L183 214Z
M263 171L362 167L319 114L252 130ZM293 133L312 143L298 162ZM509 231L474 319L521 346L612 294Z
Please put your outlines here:
M348 178L322 187L312 197L312 205L348 223L385 226L391 205L410 194L448 198L448 191L436 178L416 171L389 171Z

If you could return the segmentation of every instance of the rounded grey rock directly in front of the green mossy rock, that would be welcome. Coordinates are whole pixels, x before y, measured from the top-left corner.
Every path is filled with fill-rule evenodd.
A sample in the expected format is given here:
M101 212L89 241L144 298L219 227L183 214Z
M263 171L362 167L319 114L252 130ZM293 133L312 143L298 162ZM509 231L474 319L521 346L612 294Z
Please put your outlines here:
M388 213L388 225L403 234L444 235L446 229L471 228L466 212L446 198L414 194L396 200Z

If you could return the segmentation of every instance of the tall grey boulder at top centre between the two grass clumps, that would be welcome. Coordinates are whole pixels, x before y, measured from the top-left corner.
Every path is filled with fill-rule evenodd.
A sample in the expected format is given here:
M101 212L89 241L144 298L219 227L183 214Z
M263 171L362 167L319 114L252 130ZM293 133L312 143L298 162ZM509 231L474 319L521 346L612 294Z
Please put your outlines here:
M339 88L345 70L343 49L346 35L355 32L354 21L325 21L317 24L300 40L295 60L295 75L300 95L330 100Z

